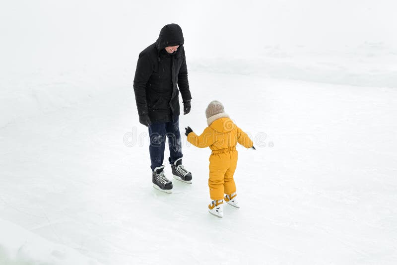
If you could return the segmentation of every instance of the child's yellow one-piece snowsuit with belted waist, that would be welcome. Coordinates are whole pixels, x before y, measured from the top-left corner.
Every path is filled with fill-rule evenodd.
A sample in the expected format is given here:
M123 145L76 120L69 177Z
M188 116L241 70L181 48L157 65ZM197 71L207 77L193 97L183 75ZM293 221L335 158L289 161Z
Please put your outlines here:
M252 140L231 119L220 118L212 122L201 135L189 133L188 141L193 145L212 150L209 156L209 195L211 199L223 199L224 194L236 192L233 175L237 166L237 142L246 148L253 146Z

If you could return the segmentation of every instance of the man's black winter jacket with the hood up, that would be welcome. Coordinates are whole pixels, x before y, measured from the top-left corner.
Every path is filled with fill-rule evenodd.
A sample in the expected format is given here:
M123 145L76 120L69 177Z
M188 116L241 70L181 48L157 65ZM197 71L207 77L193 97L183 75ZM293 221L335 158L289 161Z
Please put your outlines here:
M136 106L138 115L148 114L152 123L169 122L180 115L179 91L183 101L192 99L183 44L181 27L169 24L139 54L133 80ZM164 49L176 45L179 48L172 55Z

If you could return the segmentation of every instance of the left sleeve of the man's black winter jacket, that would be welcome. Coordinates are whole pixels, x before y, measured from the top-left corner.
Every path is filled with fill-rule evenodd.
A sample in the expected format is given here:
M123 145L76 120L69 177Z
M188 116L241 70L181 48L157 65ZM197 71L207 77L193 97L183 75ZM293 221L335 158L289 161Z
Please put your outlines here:
M133 78L133 91L135 93L138 115L148 114L146 103L146 83L152 74L153 69L149 58L146 55L139 55L136 64L135 77Z

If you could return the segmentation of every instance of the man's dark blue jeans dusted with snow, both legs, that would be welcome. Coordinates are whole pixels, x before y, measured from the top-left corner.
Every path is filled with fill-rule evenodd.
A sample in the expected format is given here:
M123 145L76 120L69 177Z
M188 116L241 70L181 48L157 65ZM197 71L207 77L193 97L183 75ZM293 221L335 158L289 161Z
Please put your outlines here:
M170 148L170 157L168 161L174 164L176 160L182 158L182 143L181 133L179 132L179 117L174 117L174 120L167 123L153 123L149 126L150 138L150 168L152 171L156 167L163 165L165 137L168 138L168 147Z

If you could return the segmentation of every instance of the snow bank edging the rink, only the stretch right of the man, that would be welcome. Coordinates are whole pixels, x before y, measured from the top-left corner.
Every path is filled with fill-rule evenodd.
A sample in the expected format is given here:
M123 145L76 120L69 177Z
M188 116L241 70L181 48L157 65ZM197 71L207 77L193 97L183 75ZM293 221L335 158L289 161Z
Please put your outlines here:
M196 60L189 64L189 69L340 85L397 87L397 52L382 43L363 43L337 52L311 53L306 47L291 51L279 46L268 46L262 52L265 55L256 59L236 59L237 55Z

